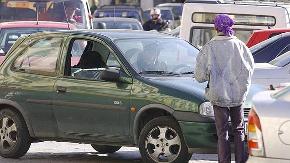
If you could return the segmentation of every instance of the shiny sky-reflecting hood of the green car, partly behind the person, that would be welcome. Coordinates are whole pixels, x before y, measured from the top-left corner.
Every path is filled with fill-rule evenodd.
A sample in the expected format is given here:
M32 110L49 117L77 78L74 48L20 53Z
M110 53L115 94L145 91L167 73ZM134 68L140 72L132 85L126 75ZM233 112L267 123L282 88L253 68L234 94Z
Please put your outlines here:
M198 83L195 78L193 77L168 77L168 76L158 76L158 77L146 77L149 79L152 83L155 83L157 85L162 85L164 87L167 87L168 89L176 89L183 92L187 92L190 94L194 94L196 96L199 96L200 98L207 100L205 95L204 88L207 86L207 82L204 83ZM244 102L245 108L250 108L251 105L251 99L253 95L257 92L267 90L267 87L252 83L250 91L247 95L246 101Z

